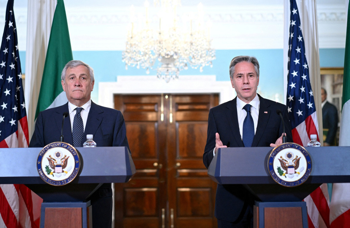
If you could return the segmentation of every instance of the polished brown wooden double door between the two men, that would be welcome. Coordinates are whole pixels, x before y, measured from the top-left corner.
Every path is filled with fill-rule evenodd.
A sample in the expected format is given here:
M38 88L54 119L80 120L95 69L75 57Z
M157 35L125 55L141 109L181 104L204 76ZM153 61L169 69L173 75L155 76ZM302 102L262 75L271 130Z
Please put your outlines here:
M218 94L115 95L136 174L115 185L116 228L213 228L216 183L203 152Z

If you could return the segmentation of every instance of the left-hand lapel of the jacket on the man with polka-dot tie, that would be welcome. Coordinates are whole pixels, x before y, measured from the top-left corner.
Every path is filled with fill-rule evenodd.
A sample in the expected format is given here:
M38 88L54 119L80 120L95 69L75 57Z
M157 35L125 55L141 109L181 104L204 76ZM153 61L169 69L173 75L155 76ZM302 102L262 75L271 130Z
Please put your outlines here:
M55 118L57 129L58 129L58 132L59 132L59 136L61 136L63 113L64 112L68 112L69 113L68 102L65 105L61 106L61 107L62 108L57 110L57 118ZM57 141L59 141L59 136L57 138ZM72 127L71 127L71 124L70 124L69 114L68 114L68 116L66 118L64 118L64 123L63 123L63 141L66 142L66 143L69 143L70 145L73 145Z

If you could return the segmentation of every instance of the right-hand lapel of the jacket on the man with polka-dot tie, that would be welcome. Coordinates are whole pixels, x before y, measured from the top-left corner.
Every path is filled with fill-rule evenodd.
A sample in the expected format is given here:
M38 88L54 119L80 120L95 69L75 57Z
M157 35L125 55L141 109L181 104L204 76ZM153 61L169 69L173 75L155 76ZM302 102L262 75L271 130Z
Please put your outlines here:
M96 105L94 102L91 101L91 108L89 111L89 115L87 116L82 144L83 142L86 141L87 134L93 135L93 136L95 135L103 119L103 116L100 115L101 113L103 113L103 110L98 105Z

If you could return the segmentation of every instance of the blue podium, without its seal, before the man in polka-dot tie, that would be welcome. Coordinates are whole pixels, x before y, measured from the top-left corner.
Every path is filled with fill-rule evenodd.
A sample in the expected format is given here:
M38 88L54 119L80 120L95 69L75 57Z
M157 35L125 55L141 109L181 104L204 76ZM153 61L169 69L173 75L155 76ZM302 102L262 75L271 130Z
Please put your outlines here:
M77 177L67 185L52 186L41 179L36 168L41 149L0 150L0 183L25 184L42 197L40 228L91 228L87 198L102 183L125 183L136 172L127 147L78 147L81 165Z

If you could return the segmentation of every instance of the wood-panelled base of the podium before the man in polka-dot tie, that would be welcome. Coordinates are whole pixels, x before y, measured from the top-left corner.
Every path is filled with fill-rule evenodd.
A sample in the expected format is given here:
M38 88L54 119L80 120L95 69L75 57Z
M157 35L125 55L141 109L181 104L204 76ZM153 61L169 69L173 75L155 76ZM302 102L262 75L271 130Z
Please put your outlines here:
M40 228L92 228L92 207L87 202L41 203Z

